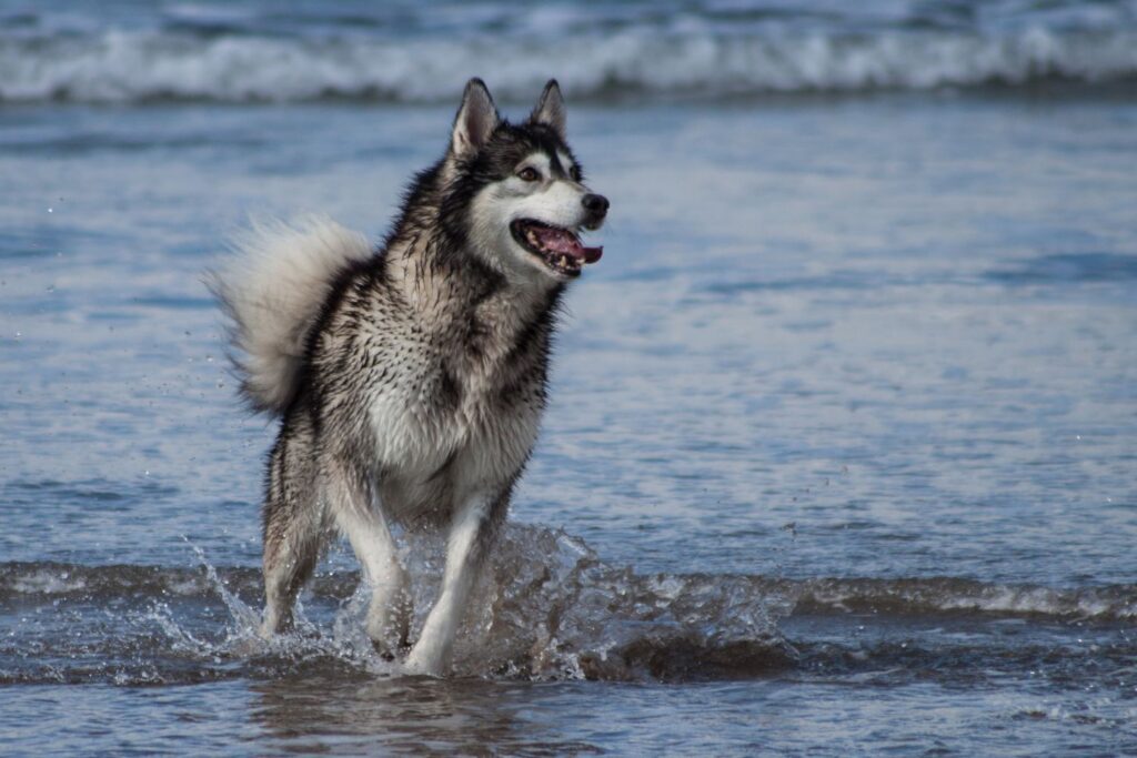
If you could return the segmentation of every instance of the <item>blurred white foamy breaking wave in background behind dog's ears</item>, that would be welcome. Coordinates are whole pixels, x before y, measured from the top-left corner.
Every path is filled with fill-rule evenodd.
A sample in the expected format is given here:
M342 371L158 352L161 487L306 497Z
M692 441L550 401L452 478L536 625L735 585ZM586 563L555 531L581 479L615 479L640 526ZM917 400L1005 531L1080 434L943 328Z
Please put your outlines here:
M471 74L506 101L556 75L574 100L1137 80L1137 31L588 31L550 44L179 30L0 35L0 102L449 102Z

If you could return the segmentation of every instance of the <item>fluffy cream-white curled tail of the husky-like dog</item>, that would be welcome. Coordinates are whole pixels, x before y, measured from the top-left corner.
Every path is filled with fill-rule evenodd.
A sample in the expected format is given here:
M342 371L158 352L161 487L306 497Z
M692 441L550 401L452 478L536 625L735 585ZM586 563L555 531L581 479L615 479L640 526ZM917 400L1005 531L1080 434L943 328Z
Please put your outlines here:
M299 389L308 334L335 277L374 250L363 234L318 216L254 222L230 247L234 255L206 284L231 319L241 392L254 409L281 414Z

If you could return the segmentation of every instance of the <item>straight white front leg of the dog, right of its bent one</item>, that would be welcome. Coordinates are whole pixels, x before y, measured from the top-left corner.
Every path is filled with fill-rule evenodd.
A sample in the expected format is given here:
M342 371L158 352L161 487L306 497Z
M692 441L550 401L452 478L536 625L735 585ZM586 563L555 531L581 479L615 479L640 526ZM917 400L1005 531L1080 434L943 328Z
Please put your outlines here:
M418 641L407 656L407 673L434 676L446 673L462 614L504 516L505 503L506 497L480 494L455 511L442 588Z

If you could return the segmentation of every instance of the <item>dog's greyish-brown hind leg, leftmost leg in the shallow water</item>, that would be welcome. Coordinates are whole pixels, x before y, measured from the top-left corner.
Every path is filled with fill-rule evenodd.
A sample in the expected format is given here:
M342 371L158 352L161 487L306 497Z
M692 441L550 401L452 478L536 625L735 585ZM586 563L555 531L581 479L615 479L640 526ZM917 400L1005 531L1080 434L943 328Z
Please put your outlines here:
M292 625L292 603L319 559L326 532L308 426L285 423L268 465L264 506L265 615L269 639Z

